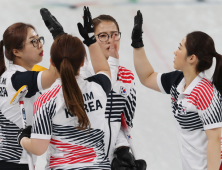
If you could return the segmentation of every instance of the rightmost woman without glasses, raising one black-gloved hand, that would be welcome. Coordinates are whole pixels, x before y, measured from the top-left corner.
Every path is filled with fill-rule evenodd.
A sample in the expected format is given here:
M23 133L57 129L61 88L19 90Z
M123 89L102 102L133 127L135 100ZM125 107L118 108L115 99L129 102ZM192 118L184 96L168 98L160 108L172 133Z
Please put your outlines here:
M171 95L172 111L178 132L183 170L218 170L221 155L222 127L222 57L213 39L204 32L189 33L174 52L170 73L154 72L142 41L143 18L135 16L132 32L134 65L141 83ZM216 68L212 81L204 71Z

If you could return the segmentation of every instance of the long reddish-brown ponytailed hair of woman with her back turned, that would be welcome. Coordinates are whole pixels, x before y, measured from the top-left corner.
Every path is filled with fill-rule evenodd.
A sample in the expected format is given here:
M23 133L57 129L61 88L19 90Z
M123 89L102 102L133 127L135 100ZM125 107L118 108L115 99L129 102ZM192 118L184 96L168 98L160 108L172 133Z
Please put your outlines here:
M78 129L90 127L90 121L85 112L82 92L75 76L78 75L81 64L86 56L82 41L68 34L56 38L51 47L51 59L60 73L62 90L68 111L78 117Z

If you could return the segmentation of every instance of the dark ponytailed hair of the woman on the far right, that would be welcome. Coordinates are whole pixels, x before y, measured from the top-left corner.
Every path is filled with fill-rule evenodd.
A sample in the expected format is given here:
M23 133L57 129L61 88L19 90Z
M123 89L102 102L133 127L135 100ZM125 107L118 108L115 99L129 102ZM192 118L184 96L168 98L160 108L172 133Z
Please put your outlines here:
M195 31L186 36L185 46L188 56L194 54L198 58L197 72L209 69L213 63L213 57L216 58L212 83L222 94L222 56L216 52L213 39L204 32Z

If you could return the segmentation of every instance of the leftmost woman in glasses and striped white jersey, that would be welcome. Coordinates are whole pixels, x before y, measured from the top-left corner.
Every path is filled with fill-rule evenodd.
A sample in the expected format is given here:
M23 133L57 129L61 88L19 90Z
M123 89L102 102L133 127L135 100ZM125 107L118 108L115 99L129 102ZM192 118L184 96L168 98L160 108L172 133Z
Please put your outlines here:
M17 143L17 132L22 127L19 103L10 105L10 101L23 85L28 86L24 107L27 112L27 124L31 125L32 106L39 96L38 92L49 88L55 81L53 66L43 72L31 71L35 64L42 61L43 44L44 37L39 37L30 24L12 24L3 34L3 40L0 43L1 170L28 169L26 152ZM7 69L4 56L10 61Z

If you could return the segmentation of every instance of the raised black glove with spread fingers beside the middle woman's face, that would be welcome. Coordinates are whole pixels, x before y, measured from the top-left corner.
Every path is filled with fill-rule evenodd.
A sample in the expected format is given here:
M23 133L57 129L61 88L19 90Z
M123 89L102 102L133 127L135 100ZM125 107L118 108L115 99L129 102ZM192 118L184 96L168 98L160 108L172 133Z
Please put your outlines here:
M89 7L84 6L83 12L84 12L84 18L83 18L84 27L81 23L78 23L77 26L80 35L85 39L83 43L89 47L91 44L96 42L96 37L94 36L94 26L92 22L91 13L89 11Z

